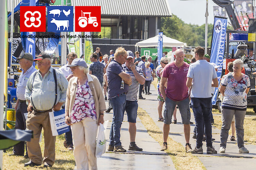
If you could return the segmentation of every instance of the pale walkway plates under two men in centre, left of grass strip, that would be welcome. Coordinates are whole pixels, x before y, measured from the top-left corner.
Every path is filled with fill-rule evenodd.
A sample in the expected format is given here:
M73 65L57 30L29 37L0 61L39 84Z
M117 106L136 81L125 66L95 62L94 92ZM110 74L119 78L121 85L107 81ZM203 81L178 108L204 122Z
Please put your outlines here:
M108 105L108 102L106 102ZM137 134L136 144L142 148L142 152L128 151L130 138L127 122L127 115L125 113L123 124L121 127L122 146L127 150L126 153L114 153L107 151L109 144L110 126L113 117L113 110L110 113L104 114L104 120L109 120L108 127L105 132L107 141L106 153L97 159L98 169L175 169L172 160L165 152L160 151L161 146L156 142L141 123L137 117Z

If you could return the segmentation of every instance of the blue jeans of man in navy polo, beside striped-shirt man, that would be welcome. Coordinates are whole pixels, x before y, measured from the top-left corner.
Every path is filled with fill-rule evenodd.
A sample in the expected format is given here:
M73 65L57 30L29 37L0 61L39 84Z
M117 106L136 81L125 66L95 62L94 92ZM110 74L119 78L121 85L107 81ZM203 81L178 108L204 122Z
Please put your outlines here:
M126 103L126 95L120 94L116 97L109 99L111 106L113 107L113 120L110 128L109 145L120 146L120 128L124 118L124 109Z

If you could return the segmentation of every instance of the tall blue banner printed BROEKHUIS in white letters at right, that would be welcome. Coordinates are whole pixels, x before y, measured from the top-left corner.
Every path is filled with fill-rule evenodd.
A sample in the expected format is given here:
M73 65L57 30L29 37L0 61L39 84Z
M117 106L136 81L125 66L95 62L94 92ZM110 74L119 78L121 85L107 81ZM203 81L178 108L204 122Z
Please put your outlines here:
M214 17L213 34L212 34L212 46L211 46L211 59L210 63L215 63L219 66L217 70L218 82L221 83L222 65L225 51L225 40L227 30L227 18ZM229 35L228 35L229 36ZM212 104L216 104L218 97L218 88L215 88L214 95L212 97Z

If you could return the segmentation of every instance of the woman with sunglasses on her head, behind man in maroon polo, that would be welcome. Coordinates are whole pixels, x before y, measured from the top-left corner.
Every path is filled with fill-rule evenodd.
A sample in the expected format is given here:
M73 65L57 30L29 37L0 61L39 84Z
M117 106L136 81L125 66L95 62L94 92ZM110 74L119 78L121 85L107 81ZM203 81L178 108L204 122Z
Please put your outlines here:
M157 105L157 111L158 111L158 121L163 122L163 117L162 117L162 107L163 103L165 100L163 100L163 97L160 92L160 80L162 76L162 70L163 68L168 64L168 58L167 57L162 57L160 60L160 65L156 67L156 78L157 78L157 90L158 90L158 95L157 95L157 100L158 100L158 105ZM165 91L167 88L167 84L165 85Z

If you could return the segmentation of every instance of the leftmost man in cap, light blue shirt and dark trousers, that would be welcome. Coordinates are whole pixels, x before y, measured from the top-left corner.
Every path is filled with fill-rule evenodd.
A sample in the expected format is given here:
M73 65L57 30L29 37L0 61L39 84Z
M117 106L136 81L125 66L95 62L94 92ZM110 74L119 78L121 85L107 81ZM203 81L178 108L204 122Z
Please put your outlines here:
M33 64L33 56L29 53L24 53L22 56L17 58L20 64L20 68L22 68L22 73L19 76L19 81L16 89L16 96L17 96L17 102L14 107L16 111L16 120L15 120L15 129L21 129L25 130L26 129L26 119L24 116L24 113L27 113L27 104L26 104L26 99L25 99L25 89L27 85L27 81L29 76L37 69L35 69L32 64ZM13 147L13 154L16 156L24 156L24 149L25 147L25 142L20 142L17 145ZM27 153L25 155L27 156Z

